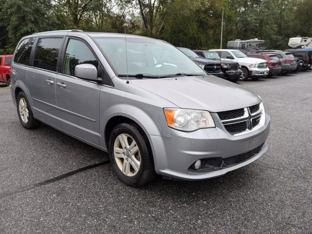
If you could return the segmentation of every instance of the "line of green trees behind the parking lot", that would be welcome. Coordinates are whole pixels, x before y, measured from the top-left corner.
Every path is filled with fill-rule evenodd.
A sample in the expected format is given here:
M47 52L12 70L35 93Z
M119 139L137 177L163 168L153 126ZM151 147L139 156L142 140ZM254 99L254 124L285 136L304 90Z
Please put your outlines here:
M164 39L191 49L258 38L286 49L289 38L312 37L312 0L0 0L0 54L21 37L81 29Z

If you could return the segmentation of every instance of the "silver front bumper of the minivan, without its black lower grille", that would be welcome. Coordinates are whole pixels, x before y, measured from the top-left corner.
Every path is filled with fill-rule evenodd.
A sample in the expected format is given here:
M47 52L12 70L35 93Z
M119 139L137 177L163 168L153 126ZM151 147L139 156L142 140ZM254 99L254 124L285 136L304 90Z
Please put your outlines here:
M156 173L181 180L202 180L222 176L262 156L268 149L266 139L269 132L270 116L266 114L265 123L261 128L240 136L232 136L218 122L215 128L200 129L191 133L170 129L171 138L150 135ZM222 160L252 151L260 145L262 146L257 154L240 163L215 167L209 172L189 170L196 160L207 158Z

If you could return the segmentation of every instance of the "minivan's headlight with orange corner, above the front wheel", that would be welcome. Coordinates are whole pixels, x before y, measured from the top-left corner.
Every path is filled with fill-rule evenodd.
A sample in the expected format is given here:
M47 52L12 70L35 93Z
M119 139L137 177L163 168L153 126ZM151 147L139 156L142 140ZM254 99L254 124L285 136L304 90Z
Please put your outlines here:
M164 109L168 126L184 132L214 128L215 122L208 111L191 109Z

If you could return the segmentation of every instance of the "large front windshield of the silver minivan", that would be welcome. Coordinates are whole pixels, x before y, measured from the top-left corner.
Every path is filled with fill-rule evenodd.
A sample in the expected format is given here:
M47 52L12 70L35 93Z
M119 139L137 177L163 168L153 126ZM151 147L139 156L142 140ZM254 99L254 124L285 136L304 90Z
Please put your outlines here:
M119 76L127 74L127 70L129 75L165 76L177 73L207 75L176 47L161 40L127 38L127 53L123 37L102 37L95 40Z

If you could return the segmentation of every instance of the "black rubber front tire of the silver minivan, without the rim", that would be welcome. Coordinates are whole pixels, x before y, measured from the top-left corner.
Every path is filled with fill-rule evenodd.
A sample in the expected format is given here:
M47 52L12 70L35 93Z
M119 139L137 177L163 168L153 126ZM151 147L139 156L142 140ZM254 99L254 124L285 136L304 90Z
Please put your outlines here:
M134 176L125 175L118 167L114 156L114 144L117 137L121 134L126 134L132 137L138 146L140 153L140 167L137 174ZM112 131L109 142L109 158L113 169L118 178L124 183L132 186L143 186L156 178L153 155L150 149L149 141L144 132L134 123L120 123ZM125 159L121 159L125 160Z

